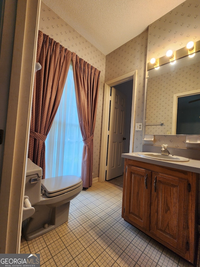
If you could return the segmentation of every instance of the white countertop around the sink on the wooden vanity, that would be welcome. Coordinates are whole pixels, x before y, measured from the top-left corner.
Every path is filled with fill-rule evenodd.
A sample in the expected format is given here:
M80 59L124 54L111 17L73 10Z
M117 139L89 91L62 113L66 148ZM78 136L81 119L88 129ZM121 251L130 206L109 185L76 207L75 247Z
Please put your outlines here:
M136 160L136 161L156 164L160 166L171 167L171 168L175 168L179 170L200 173L200 160L189 159L188 162L162 161L162 160L157 160L157 159L141 157L138 155L138 153L140 152L124 153L122 154L122 157Z

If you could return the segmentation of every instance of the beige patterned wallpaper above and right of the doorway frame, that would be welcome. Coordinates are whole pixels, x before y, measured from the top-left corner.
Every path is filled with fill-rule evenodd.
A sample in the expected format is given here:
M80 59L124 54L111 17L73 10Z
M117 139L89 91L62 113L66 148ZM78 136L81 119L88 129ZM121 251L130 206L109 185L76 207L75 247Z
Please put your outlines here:
M106 56L105 82L133 70L137 73L135 123L143 123L148 31ZM133 151L142 151L143 131L135 131Z

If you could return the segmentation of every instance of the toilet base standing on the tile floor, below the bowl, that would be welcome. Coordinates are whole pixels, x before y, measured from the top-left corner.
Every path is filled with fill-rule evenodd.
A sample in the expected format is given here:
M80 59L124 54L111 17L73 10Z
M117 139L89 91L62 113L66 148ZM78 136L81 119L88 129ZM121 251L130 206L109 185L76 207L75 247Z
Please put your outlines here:
M70 201L61 206L51 208L48 205L35 205L35 213L23 228L27 241L55 229L68 221Z

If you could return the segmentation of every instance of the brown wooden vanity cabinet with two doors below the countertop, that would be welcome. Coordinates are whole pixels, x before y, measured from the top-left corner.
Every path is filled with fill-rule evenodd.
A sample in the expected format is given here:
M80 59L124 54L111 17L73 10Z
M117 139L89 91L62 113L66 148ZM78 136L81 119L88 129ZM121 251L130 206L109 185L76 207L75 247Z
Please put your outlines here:
M194 263L199 174L125 158L122 217Z

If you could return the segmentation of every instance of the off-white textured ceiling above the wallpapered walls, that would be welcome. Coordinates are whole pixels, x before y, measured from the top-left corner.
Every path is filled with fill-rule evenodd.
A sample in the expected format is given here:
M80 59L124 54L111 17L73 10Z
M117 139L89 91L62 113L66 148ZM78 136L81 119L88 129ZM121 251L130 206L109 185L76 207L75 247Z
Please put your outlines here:
M183 0L42 0L107 55Z

